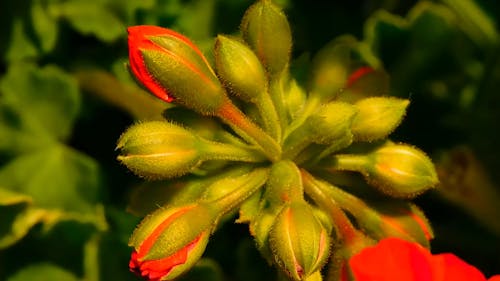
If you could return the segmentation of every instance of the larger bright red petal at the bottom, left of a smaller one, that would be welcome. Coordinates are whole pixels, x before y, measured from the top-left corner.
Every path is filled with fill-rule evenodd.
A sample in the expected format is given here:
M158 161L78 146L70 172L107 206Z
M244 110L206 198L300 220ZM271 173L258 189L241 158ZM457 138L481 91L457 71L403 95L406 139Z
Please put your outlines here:
M349 265L356 281L431 281L430 258L419 244L387 238L352 257Z

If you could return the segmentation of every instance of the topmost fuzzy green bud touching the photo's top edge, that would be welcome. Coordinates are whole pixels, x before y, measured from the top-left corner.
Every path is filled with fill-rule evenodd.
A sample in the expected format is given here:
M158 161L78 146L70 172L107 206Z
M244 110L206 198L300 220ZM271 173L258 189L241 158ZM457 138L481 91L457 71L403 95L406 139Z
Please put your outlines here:
M285 70L290 60L292 34L288 20L278 6L271 0L252 5L243 17L241 31L271 76Z

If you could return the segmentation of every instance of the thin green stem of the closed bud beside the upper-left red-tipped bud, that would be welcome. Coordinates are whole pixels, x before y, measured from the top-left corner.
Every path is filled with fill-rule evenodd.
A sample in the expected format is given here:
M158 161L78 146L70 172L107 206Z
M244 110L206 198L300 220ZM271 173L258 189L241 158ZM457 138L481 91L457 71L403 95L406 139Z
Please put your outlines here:
M277 140L281 140L281 124L276 108L268 92L262 93L255 101L260 117L264 122L266 132Z

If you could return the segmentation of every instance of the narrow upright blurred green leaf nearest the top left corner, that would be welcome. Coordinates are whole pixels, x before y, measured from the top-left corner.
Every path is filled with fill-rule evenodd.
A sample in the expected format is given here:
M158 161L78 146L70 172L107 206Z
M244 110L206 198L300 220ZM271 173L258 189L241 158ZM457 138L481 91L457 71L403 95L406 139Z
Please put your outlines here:
M33 29L40 43L40 48L45 53L54 49L59 31L57 19L49 13L47 8L41 0L35 0L31 5Z

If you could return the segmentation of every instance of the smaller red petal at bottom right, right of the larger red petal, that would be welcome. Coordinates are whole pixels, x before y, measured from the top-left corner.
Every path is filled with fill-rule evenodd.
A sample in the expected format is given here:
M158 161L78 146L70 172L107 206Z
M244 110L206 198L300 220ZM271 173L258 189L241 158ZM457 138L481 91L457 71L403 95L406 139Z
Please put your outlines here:
M434 281L486 281L483 273L454 254L432 257Z

